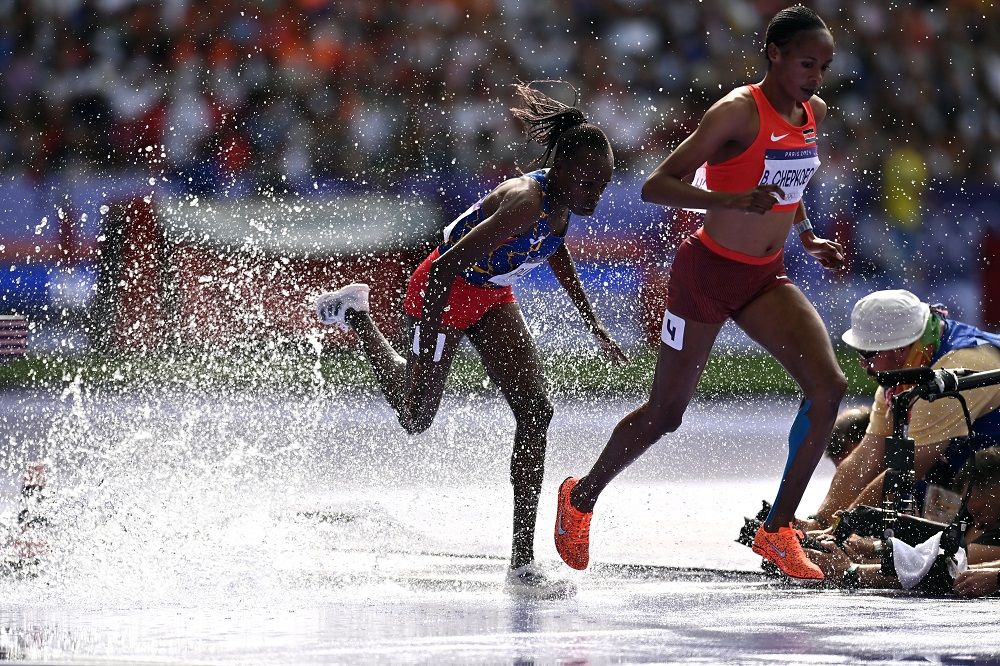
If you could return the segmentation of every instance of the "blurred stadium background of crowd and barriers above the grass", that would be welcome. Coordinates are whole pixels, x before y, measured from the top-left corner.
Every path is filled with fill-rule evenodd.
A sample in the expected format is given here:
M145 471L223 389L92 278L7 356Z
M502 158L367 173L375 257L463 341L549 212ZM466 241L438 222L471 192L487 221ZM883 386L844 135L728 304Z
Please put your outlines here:
M643 204L644 174L762 77L787 4L0 0L0 314L41 353L238 345L301 337L310 296L364 280L391 329L438 230L538 152L510 84L565 79L619 165L571 247L638 344L697 224ZM1000 327L1000 10L810 4L837 55L807 205L851 269L792 239L792 277L835 334L889 286ZM522 288L538 331L574 328L556 288Z

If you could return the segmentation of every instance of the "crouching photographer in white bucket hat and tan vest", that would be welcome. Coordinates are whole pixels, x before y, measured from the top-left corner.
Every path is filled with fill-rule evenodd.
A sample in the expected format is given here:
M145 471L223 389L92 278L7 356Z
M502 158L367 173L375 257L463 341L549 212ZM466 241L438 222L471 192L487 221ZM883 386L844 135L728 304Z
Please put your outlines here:
M858 351L862 367L873 376L921 366L1000 368L1000 335L948 319L942 309L932 308L901 289L876 291L859 300L851 313L851 329L842 337ZM835 512L858 503L859 497L870 501L871 493L881 492L878 477L885 469L885 438L892 433L889 400L902 388L890 390L888 396L881 387L875 393L864 437L837 466L816 515L800 523L804 529L825 528ZM942 466L958 469L975 448L1000 443L1000 386L978 388L963 395L976 433L965 450L952 442L953 438L969 434L958 401L921 400L913 406L909 436L916 442L913 467L918 479L923 479L935 465L939 470Z

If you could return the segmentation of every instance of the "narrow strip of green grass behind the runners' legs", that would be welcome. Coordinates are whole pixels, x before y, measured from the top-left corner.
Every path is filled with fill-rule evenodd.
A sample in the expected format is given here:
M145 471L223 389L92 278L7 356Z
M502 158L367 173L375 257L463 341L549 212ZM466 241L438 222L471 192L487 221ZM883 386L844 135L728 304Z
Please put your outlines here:
M870 396L875 384L858 366L856 356L838 349L848 393ZM543 354L553 397L574 395L642 395L649 391L656 353L642 348L624 367L612 366L597 352ZM376 389L371 369L357 350L337 347L318 355L303 348L195 353L32 355L0 363L0 389L46 389L76 385L102 391L128 391L138 386L190 389L214 393L314 393ZM449 392L490 391L474 352L462 351L448 381ZM761 351L717 350L698 387L705 397L747 393L794 394L798 386L787 372Z

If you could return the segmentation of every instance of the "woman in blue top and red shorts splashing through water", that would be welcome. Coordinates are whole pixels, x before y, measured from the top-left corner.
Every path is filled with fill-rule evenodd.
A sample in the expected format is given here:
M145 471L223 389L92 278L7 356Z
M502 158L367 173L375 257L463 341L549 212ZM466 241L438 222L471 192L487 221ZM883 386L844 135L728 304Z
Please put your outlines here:
M535 164L542 168L504 181L476 202L448 225L441 245L414 272L404 302L413 340L408 357L392 348L369 316L367 285L324 294L317 312L323 322L357 332L379 387L409 433L426 430L434 420L455 351L468 336L517 424L510 471L514 529L508 587L530 596L565 596L571 586L546 577L534 565L552 404L538 349L511 284L547 262L605 352L617 362L626 361L590 305L563 243L571 214L594 213L611 180L614 157L607 137L579 109L530 85L516 89L524 105L512 111L529 137L545 145Z

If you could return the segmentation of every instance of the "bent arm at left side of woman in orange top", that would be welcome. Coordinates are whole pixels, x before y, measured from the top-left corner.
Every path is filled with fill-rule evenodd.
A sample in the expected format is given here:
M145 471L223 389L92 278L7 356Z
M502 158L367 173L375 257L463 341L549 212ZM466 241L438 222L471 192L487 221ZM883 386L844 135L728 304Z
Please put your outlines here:
M702 117L698 127L667 159L656 167L642 185L642 200L676 208L734 208L766 213L777 203L774 193L784 195L776 185L763 185L747 192L710 192L687 182L705 162L714 159L727 144L744 142L752 120L747 105L738 99L716 102Z

